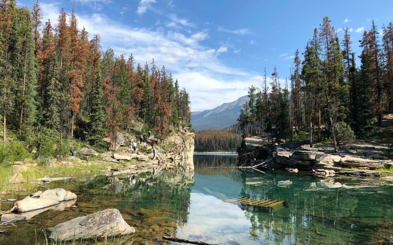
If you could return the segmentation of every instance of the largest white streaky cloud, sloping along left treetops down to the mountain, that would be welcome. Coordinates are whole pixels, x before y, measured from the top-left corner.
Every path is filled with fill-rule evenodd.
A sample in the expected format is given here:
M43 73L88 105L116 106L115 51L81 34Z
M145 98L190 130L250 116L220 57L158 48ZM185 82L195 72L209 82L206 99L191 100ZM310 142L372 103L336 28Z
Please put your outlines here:
M41 8L44 20L50 18L55 25L60 6L41 3ZM160 69L165 64L168 73L190 93L193 111L233 101L246 95L251 85L261 84L257 73L229 67L219 59L228 46L217 50L202 46L200 42L209 37L207 31L184 34L163 28L134 28L132 23L124 25L103 14L76 15L79 28L85 27L90 38L100 34L103 50L111 47L116 55L126 57L132 52L141 64L147 61L150 65L154 58Z

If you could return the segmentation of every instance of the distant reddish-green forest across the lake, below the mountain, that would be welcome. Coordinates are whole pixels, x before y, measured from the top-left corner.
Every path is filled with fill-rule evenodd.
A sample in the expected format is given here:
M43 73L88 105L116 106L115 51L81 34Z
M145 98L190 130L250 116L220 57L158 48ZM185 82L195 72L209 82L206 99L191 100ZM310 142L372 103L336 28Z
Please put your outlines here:
M236 151L241 142L240 134L217 129L205 129L195 133L197 151Z

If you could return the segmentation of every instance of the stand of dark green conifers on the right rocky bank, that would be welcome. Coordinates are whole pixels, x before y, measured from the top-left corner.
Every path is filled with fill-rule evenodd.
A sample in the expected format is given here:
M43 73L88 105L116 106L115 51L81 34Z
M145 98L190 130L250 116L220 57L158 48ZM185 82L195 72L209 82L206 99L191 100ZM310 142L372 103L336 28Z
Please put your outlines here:
M393 112L393 22L372 22L359 42L359 54L352 51L356 42L349 29L343 32L339 40L324 17L303 51L295 52L289 79L280 79L275 67L267 84L265 69L261 88L249 89L238 119L245 136L267 132L277 140L306 140L310 146L331 138L336 149L355 135L390 138L392 127L384 115Z

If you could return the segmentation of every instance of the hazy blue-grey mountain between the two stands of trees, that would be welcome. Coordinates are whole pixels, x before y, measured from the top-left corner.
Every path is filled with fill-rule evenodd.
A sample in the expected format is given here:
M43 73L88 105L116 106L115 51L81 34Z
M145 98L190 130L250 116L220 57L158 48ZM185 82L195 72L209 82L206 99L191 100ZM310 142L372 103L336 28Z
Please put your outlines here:
M191 112L191 124L196 131L202 129L220 129L237 122L239 111L249 100L243 96L230 103L224 103L214 109Z

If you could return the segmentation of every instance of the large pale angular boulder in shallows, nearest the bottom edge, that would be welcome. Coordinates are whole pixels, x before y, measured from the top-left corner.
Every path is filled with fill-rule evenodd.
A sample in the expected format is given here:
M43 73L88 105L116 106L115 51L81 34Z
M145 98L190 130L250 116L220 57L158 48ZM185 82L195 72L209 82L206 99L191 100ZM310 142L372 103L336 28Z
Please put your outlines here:
M89 238L104 238L135 233L117 209L106 209L88 216L57 224L47 230L55 241L73 241Z

